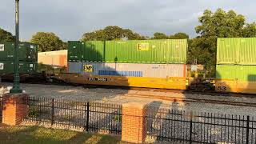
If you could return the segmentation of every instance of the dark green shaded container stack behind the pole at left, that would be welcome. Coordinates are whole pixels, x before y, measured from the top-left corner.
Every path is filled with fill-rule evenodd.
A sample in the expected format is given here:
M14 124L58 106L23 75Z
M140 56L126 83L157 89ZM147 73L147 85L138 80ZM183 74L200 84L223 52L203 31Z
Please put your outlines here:
M0 74L14 73L14 42L0 42ZM19 72L31 74L36 71L38 46L29 42L19 44Z

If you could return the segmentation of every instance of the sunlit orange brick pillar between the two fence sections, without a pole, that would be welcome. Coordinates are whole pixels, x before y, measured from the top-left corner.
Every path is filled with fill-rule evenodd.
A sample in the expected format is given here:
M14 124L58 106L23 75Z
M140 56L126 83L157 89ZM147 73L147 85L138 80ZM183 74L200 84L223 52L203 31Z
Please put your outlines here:
M122 105L122 141L143 143L146 138L146 104Z

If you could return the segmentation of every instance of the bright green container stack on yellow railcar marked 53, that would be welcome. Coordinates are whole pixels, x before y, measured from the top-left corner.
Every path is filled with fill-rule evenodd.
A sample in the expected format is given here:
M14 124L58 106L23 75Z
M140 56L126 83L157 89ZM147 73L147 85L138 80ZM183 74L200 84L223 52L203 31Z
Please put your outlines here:
M218 38L216 90L256 94L256 38Z

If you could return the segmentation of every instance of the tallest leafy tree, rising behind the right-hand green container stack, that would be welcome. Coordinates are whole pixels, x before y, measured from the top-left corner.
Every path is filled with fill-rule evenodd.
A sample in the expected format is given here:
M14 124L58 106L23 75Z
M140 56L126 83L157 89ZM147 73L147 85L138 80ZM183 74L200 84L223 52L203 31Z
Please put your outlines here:
M197 59L198 63L205 64L206 70L214 76L217 53L217 38L239 38L255 36L255 24L246 24L246 19L234 10L228 12L218 9L214 13L205 10L195 27L199 34L189 43L188 63Z

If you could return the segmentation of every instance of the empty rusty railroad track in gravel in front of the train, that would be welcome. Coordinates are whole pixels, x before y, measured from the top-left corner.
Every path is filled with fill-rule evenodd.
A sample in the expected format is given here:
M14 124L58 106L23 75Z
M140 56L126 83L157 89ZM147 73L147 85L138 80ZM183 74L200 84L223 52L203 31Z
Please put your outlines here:
M53 83L46 82L29 82L29 84L42 84L42 85L53 85ZM166 89L150 89L150 88L138 88L138 87L122 87L122 86L84 86L84 85L70 85L66 83L54 83L58 86L83 86L85 88L105 88L105 89L121 89L121 90L142 90L142 91L155 91L155 92L172 92L177 94L202 94L210 95L215 97L239 97L239 98L256 98L256 95L253 94L222 94L217 92L198 92L191 90L166 90ZM100 93L101 92L95 92ZM124 93L115 93L115 94L124 94ZM222 105L232 105L232 106L252 106L256 107L256 103L252 102L234 102L226 100L216 100L216 99L206 99L206 98L181 98L181 97L172 97L172 96L162 96L162 95L147 95L147 94L125 94L125 96L133 98L155 98L160 100L172 101L172 102L203 102L203 103L214 103Z

